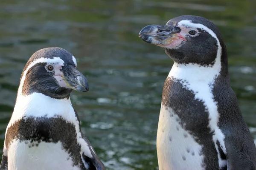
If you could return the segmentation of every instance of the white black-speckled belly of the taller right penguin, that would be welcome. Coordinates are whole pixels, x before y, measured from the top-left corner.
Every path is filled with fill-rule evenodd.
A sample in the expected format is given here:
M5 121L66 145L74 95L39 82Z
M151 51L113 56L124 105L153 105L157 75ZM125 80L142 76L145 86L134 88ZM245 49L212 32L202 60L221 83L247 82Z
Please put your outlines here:
M204 170L201 151L202 146L180 126L179 117L162 106L157 129L159 170Z

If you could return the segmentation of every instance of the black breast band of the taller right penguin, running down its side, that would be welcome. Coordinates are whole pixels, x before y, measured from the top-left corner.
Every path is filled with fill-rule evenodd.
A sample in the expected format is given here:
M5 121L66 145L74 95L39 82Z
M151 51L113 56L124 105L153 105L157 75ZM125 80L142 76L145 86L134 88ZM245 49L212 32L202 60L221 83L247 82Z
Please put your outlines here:
M194 91L188 90L181 80L168 77L163 88L162 109L166 110L165 113L170 113L169 116L173 122L178 123L178 126L174 127L175 130L172 129L172 133L174 131L175 134L184 133L185 131L188 134L176 136L182 136L183 138L186 138L187 135L192 136L202 146L200 153L204 156L202 167L206 167L206 169L207 167L218 169L218 153L212 140L215 131L212 131L209 127L209 111L204 101L195 97L195 93ZM166 126L168 125L166 124ZM179 126L183 131L178 130ZM174 142L174 136L168 136L168 138L172 139L170 140L170 144ZM184 152L186 152L185 146ZM182 160L183 158L180 159Z

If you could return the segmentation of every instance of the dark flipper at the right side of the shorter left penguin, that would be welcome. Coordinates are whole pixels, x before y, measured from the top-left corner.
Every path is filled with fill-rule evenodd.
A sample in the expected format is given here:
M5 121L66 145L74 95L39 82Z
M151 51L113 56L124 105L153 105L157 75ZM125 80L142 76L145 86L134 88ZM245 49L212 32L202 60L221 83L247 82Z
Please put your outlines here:
M88 146L90 148L90 152L92 153L92 156L93 156L92 158L89 158L83 154L84 161L89 164L89 170L106 170L104 164L102 163L102 161L99 160L98 156L96 155L95 150L93 150L93 147L91 146L89 140L83 133L82 133L82 138L88 144Z

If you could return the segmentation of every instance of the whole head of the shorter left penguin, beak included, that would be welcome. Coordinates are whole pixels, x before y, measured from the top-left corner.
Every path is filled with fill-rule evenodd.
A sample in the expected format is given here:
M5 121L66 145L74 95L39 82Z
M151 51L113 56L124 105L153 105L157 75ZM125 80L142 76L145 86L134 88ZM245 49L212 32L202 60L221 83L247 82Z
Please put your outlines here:
M72 89L88 91L87 79L76 70L76 59L63 48L44 48L36 51L21 74L18 95L41 93L68 98Z

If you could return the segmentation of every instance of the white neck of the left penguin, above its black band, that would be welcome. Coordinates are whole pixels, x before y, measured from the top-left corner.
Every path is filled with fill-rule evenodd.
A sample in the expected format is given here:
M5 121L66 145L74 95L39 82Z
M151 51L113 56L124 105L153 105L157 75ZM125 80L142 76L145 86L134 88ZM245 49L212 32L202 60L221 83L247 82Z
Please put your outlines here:
M41 93L32 93L27 96L19 94L12 113L12 121L21 117L55 117L69 116L74 112L70 98L54 99Z

